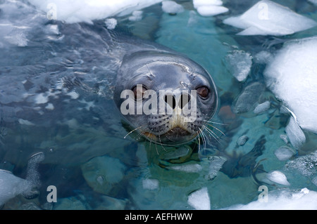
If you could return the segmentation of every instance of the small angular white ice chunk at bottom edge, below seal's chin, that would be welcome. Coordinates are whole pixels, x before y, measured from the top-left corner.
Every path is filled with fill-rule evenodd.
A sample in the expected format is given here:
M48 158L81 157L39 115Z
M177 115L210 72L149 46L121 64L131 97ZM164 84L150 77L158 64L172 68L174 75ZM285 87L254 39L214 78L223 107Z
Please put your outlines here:
M197 210L210 210L210 198L207 187L192 192L188 196L188 204Z

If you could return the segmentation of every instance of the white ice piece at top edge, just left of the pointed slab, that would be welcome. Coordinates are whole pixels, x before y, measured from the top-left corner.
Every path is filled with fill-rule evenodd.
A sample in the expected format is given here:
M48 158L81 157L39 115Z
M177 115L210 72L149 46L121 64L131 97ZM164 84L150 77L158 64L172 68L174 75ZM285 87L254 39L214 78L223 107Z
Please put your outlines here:
M212 16L228 12L228 8L222 6L223 2L220 0L193 0L194 8L202 16Z

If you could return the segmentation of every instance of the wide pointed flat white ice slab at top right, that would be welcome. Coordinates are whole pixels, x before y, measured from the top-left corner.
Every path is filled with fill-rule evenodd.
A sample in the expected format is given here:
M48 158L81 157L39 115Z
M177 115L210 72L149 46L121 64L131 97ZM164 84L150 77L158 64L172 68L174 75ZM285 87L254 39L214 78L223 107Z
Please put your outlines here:
M309 18L294 13L285 6L273 1L263 0L237 17L223 20L223 23L244 29L239 35L294 34L317 25Z

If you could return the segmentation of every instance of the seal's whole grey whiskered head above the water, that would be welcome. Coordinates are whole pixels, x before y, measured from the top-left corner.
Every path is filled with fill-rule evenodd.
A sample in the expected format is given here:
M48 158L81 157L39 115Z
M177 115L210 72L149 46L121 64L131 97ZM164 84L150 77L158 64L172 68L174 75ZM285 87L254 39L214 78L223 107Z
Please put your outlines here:
M135 131L162 145L196 138L218 105L206 70L185 56L156 50L125 55L114 100Z

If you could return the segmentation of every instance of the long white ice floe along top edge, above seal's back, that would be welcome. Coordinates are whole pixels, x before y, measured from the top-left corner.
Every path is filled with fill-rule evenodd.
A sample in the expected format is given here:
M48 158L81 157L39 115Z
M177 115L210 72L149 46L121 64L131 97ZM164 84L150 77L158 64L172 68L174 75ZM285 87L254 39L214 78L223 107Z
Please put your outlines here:
M89 22L113 17L115 15L129 15L133 11L146 8L162 0L29 0L48 18L63 20L68 23Z

